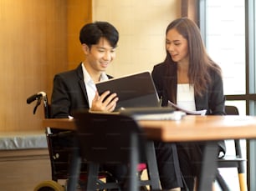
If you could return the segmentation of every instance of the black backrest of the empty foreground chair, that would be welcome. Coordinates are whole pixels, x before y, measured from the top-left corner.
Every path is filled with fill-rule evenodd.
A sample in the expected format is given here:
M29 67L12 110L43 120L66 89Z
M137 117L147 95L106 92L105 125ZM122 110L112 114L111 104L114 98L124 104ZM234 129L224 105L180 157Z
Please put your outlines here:
M88 163L129 163L134 147L139 161L146 161L146 139L133 118L80 111L74 113L74 119L81 157Z

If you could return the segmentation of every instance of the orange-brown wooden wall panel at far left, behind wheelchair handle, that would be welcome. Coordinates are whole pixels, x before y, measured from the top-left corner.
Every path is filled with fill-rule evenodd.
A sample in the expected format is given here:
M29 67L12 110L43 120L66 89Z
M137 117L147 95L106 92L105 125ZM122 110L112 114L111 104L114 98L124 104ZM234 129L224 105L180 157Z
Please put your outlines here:
M0 131L40 128L29 95L67 68L66 1L0 0Z

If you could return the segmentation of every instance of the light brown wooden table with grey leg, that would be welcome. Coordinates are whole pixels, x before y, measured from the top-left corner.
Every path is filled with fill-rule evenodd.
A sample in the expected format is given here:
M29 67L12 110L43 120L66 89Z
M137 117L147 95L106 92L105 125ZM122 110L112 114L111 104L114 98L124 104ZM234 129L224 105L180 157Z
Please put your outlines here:
M147 138L163 142L205 141L201 183L198 190L212 187L217 169L218 140L256 138L256 117L192 116L181 121L138 121ZM74 119L44 119L43 127L75 130Z

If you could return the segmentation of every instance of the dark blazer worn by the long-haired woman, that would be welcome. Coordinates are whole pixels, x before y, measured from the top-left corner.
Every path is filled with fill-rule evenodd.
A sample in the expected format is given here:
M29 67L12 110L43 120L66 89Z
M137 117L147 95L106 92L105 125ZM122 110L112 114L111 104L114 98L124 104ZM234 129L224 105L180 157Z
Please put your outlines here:
M170 91L175 91L177 97L177 64L170 64L171 75L166 76L166 63L159 63L154 66L152 78L156 85L156 90L160 98L162 98L162 106L166 106L168 102L168 94ZM223 79L222 77L211 70L211 83L207 84L207 91L202 96L195 96L197 110L207 109L207 115L224 115L225 114L225 96L223 95ZM166 79L171 78L171 87L166 87ZM175 100L170 100L177 103ZM225 144L220 143L223 152ZM225 153L225 152L224 152Z

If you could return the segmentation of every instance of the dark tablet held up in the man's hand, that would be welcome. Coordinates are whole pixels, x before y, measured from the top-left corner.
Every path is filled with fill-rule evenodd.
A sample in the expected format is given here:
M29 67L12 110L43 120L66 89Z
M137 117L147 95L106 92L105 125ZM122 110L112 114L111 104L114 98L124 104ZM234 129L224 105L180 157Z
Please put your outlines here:
M159 98L151 73L142 72L96 83L98 93L109 90L119 98L116 109L159 107Z

